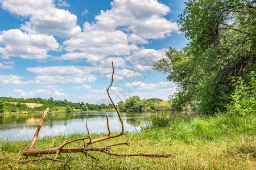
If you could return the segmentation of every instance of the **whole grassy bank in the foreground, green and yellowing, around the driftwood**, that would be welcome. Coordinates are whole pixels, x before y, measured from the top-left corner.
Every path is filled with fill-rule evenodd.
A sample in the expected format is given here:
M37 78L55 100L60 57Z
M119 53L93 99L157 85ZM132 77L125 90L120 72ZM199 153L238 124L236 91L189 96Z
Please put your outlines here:
M22 150L30 141L1 141L0 169L255 169L256 161L256 121L255 116L228 117L154 117L151 128L141 133L124 135L102 141L94 146L130 142L128 146L115 146L116 152L163 152L176 154L176 159L168 158L121 158L98 152L90 152L97 159L82 154L62 154L66 162L52 163L40 160L24 164L15 163L24 159ZM85 130L86 131L86 130ZM104 134L93 134L92 138ZM35 148L59 146L64 140L82 137L82 134L44 137L36 142ZM82 142L67 147L81 146ZM10 161L11 160L11 161ZM90 163L92 165L86 165ZM100 168L98 168L100 169Z

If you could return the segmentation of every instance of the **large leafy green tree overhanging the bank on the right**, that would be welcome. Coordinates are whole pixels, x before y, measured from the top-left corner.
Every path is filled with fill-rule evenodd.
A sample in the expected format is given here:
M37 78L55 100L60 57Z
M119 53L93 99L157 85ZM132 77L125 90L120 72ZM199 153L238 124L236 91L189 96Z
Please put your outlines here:
M179 16L189 40L170 48L154 69L178 84L174 106L198 106L205 113L224 110L234 87L231 78L255 70L256 6L249 0L189 0Z

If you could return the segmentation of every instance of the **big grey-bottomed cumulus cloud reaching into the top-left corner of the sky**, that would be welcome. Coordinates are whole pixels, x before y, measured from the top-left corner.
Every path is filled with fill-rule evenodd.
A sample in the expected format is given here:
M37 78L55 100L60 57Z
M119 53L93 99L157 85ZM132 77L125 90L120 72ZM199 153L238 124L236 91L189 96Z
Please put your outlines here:
M1 0L2 8L20 16L30 16L22 24L22 29L29 33L43 33L59 37L70 37L81 31L76 24L77 17L71 12L55 7L53 0L18 1ZM57 1L59 7L69 6L65 1Z

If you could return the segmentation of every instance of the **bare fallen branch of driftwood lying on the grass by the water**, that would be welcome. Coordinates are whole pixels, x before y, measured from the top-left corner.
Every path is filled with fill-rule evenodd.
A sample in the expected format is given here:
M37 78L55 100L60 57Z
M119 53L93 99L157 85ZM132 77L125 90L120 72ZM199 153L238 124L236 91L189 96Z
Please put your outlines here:
M88 151L98 151L98 152L104 152L105 154L109 154L109 155L115 155L115 156L146 156L146 157L163 157L163 158L176 158L176 155L173 154L155 154L155 153L118 153L118 152L112 152L109 151L113 146L118 146L118 145L127 145L129 146L128 142L125 143L117 143L114 145L109 145L109 146L103 146L103 147L88 147L89 145L92 145L93 143L97 143L97 142L101 142L101 141L105 141L107 139L111 139L111 138L117 138L120 137L122 135L128 134L129 131L124 131L123 128L123 121L122 118L119 114L117 105L114 104L113 100L111 99L110 95L109 95L109 88L112 86L113 84L113 75L114 75L114 65L112 62L112 80L111 80L111 84L108 88L106 88L106 91L108 92L108 96L110 101L112 102L112 104L114 105L115 111L117 112L119 121L121 122L122 125L122 131L121 133L117 133L117 134L111 134L110 129L109 129L109 120L108 120L108 116L106 117L106 121L107 121L107 128L108 128L108 135L106 135L105 137L101 137L101 138L97 138L97 139L91 139L90 138L90 134L89 134L89 129L86 123L86 129L87 129L87 135L84 138L78 138L78 139L73 139L72 141L64 141L60 146L58 147L53 147L53 148L43 148L43 149L33 149L36 139L38 138L38 134L40 131L41 126L43 125L43 121L44 118L46 117L47 112L49 111L49 108L46 109L46 111L44 111L43 116L39 122L38 128L36 129L36 133L34 135L34 138L30 144L30 146L26 149L23 150L23 155L24 156L38 156L38 157L42 157L42 155L44 154L56 154L55 158L52 158L50 156L44 156L44 158L46 159L50 159L53 161L61 161L61 159L57 159L58 156L61 153L70 153L70 152L82 152L82 153L87 153ZM85 142L85 140L87 140L87 142ZM84 145L80 146L80 147L70 147L70 148L64 148L64 146L68 145L69 143L72 142L76 142L76 141L84 141ZM40 160L40 159L33 159L33 160Z

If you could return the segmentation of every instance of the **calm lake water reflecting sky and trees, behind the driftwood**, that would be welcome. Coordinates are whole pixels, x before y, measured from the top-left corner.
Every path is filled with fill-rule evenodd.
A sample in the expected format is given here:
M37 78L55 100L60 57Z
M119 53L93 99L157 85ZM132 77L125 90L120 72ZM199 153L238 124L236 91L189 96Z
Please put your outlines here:
M154 113L121 113L125 131L130 133L139 130L139 126ZM90 133L107 133L106 116L112 131L121 131L121 123L116 112L93 113L48 113L40 130L39 137L58 134L87 133L87 122ZM9 141L31 140L42 114L0 115L0 137ZM47 124L48 123L48 124Z

